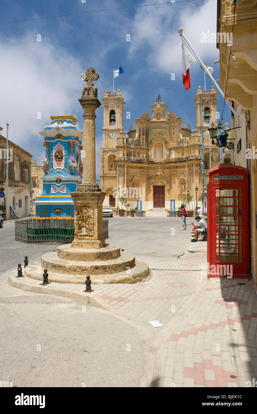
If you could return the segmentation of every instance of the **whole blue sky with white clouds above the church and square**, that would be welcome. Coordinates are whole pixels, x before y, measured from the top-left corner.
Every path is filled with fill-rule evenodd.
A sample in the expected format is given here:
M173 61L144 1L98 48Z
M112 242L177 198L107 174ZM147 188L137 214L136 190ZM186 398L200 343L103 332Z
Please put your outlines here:
M0 22L37 17L89 12L117 7L163 3L165 0L2 0ZM168 2L168 0L166 0ZM74 16L0 24L0 126L9 138L42 163L43 138L38 132L50 123L52 115L73 115L83 128L83 110L78 99L85 82L82 72L94 67L98 99L113 88L113 70L122 66L124 73L115 79L131 119L125 119L127 132L142 113L150 112L160 93L168 111L195 128L194 94L204 89L204 73L195 63L190 69L191 88L182 83L181 39L184 33L206 65L214 67L219 79L219 51L216 43L201 43L202 32L216 32L216 0L174 2L151 7L94 12ZM202 5L202 6L199 6ZM41 42L37 35L41 35ZM130 34L130 42L126 41ZM171 73L175 80L171 81ZM207 89L211 80L207 79ZM218 101L222 112L223 99ZM41 112L41 119L37 113ZM96 172L99 178L99 154L102 146L103 107L96 111ZM223 122L231 125L225 105Z

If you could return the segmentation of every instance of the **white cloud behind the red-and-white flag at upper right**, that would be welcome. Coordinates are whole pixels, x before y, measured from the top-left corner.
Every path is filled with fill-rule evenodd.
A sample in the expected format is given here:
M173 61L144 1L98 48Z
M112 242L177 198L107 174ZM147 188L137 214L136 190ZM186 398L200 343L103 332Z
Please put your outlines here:
M209 0L202 7L190 3L171 3L139 9L131 29L130 58L147 53L149 70L163 72L181 70L181 40L178 29L183 27L187 39L203 60L212 63L219 54L216 44L200 42L201 32L216 33L216 2ZM211 62L210 62L211 61Z

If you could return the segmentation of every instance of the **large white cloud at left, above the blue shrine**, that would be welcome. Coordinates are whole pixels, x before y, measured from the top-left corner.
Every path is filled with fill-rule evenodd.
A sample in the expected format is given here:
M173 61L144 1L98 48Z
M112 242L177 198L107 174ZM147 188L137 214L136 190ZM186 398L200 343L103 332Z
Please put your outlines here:
M24 38L5 39L0 44L0 55L0 125L4 127L8 119L9 138L18 145L42 145L38 132L50 123L50 116L76 117L74 108L79 113L77 99L84 86L81 64L50 39L36 41L35 32ZM41 119L37 119L38 112ZM37 152L36 147L23 148L32 154Z

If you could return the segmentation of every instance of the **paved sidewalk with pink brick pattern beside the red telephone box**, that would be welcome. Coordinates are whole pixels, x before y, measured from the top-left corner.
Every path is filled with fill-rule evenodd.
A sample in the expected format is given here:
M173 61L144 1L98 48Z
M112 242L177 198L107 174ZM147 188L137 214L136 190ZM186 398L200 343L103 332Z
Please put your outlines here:
M246 387L255 381L257 300L252 282L208 280L206 249L207 242L187 243L180 258L148 260L154 273L148 282L93 286L92 303L137 322L149 325L157 319L163 324L152 328L163 335L153 387ZM29 283L31 291L89 296L83 285L16 281Z

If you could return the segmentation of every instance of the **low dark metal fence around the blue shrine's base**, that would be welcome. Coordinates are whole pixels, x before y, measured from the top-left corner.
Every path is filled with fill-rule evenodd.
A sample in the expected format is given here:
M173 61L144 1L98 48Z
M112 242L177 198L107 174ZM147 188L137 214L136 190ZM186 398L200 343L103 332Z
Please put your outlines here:
M103 217L103 238L108 238L108 219ZM15 220L15 240L23 243L71 243L74 220L35 220L25 217Z

